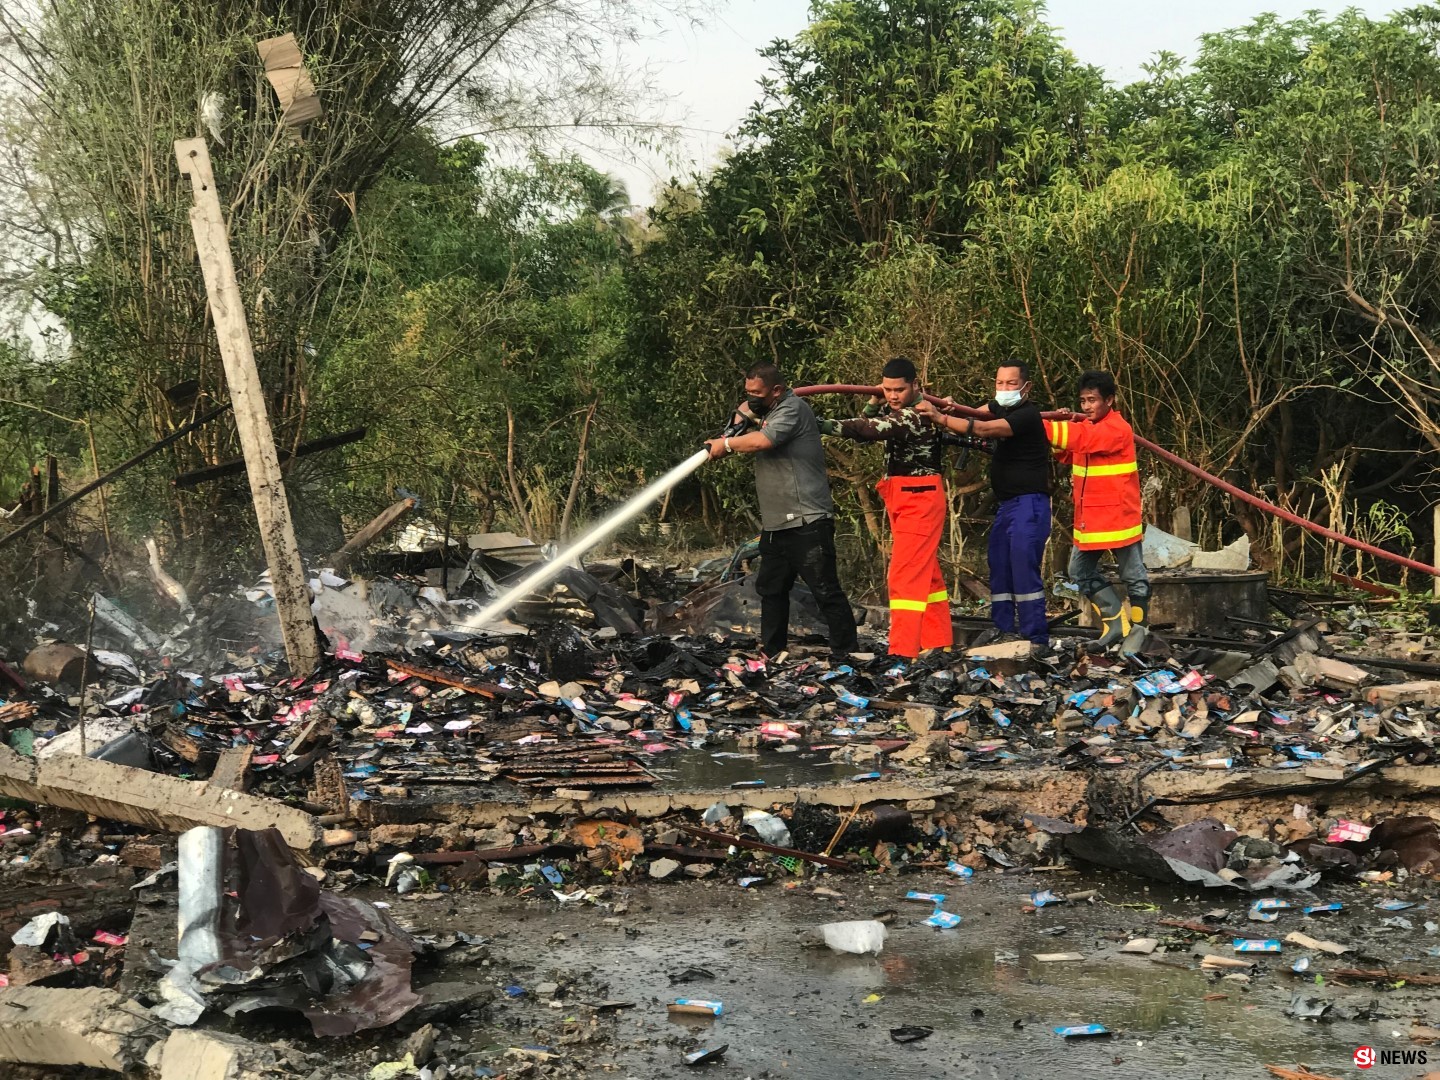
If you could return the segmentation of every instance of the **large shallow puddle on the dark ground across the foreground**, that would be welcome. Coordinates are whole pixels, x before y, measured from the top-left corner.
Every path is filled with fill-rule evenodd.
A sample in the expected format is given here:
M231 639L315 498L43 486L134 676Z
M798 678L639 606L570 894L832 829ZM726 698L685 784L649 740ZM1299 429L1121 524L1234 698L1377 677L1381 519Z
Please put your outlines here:
M730 1044L723 1076L769 1071L814 1080L1228 1079L1263 1076L1266 1063L1293 1067L1297 1061L1333 1076L1349 1073L1358 1045L1410 1048L1408 1040L1391 1034L1405 1028L1405 1021L1322 1025L1286 1017L1290 994L1303 988L1292 984L1287 962L1272 962L1246 988L1212 982L1184 953L1171 959L1187 969L1116 955L1125 930L1151 926L1153 914L1079 904L1022 914L1032 878L960 887L916 881L913 887L950 893L946 909L960 913L965 923L945 932L923 926L927 912L897 903L904 887L893 880L870 890L850 884L847 891L860 896L844 910L779 890L734 896L730 886L719 891L660 888L648 899L655 909L672 910L626 916L629 926L641 929L638 937L603 927L598 912L531 909L523 929L501 942L498 952L516 953L520 937L539 945L557 929L577 935L540 950L537 968L595 972L612 996L641 1002L619 1021L615 1045L629 1048L600 1057L616 1060L624 1074L638 1079L685 1071L677 1068L678 1050L664 1040L688 1031L698 1031L701 1045ZM819 923L863 919L888 906L901 907L901 916L878 958L798 943L802 932ZM1241 903L1228 894L1210 906ZM1166 910L1174 913L1169 904ZM1066 935L1040 933L1058 923L1068 927ZM998 963L998 950L1018 953L1020 960ZM1087 960L1031 959L1034 952L1068 950ZM667 972L685 966L708 968L717 978L670 986ZM1377 996L1365 988L1305 989L1341 1001ZM1227 999L1204 1001L1217 992ZM867 1002L871 995L878 999ZM726 1011L713 1022L677 1025L664 1011L664 1002L675 996L720 999ZM1403 1014L1407 1007L1424 1012L1417 999L1394 1002L1388 1011ZM1080 1022L1100 1022L1119 1034L1066 1041L1053 1032ZM893 1043L890 1028L904 1024L933 1027L935 1034L909 1045ZM636 1038L654 1045L635 1045Z

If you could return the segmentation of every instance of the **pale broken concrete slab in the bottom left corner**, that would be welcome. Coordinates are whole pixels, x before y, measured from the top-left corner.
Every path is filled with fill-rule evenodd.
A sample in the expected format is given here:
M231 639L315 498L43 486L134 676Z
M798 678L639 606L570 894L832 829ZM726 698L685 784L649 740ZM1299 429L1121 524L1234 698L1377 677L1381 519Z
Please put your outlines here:
M0 991L0 1061L128 1073L167 1028L115 991L20 986Z

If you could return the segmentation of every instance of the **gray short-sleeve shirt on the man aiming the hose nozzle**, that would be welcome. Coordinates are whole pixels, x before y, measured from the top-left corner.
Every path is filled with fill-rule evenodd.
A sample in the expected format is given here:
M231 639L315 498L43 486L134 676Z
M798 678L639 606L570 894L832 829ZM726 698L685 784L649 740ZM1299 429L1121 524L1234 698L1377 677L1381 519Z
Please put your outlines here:
M825 475L825 448L815 412L786 390L763 418L760 431L772 449L755 454L755 494L760 503L760 527L768 533L832 517L835 503Z

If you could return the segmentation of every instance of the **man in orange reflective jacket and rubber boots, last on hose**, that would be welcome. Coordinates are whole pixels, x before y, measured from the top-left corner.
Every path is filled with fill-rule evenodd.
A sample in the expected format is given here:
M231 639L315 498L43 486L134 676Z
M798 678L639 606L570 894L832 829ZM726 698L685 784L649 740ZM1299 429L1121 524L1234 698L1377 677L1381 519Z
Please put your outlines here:
M1080 412L1086 419L1045 420L1045 436L1060 462L1070 465L1076 511L1070 579L1100 619L1099 644L1122 642L1125 652L1135 652L1145 642L1151 579L1140 553L1145 523L1135 432L1115 410L1115 376L1084 372ZM1115 556L1123 593L1100 573L1103 552Z

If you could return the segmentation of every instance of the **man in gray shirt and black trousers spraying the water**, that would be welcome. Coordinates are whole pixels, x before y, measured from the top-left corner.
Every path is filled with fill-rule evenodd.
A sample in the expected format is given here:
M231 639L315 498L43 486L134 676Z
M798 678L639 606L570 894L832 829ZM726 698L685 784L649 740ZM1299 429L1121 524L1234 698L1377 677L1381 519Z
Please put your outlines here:
M760 503L760 648L785 651L791 589L804 579L829 626L834 654L854 652L855 615L835 572L835 504L825 475L825 449L815 413L786 386L775 364L756 364L744 379L746 402L736 413L744 432L707 439L711 458L755 455Z

